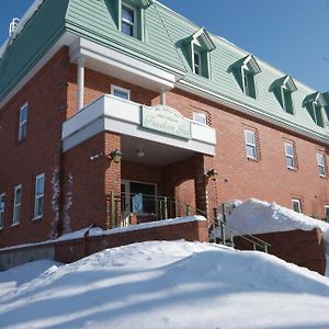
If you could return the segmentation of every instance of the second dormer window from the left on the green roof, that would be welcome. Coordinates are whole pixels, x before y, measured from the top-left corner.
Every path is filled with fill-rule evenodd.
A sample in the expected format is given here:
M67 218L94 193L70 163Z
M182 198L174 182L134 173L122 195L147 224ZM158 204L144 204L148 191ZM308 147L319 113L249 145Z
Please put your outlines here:
M215 44L205 29L198 30L192 36L184 39L182 46L193 73L211 78L209 54L215 49Z

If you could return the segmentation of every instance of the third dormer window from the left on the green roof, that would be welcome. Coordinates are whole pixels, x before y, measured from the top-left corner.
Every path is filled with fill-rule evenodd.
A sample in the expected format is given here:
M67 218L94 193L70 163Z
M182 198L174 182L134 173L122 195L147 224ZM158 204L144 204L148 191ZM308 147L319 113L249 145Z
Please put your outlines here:
M242 92L257 99L254 76L261 72L261 69L252 55L248 55L236 61L229 70L234 73Z

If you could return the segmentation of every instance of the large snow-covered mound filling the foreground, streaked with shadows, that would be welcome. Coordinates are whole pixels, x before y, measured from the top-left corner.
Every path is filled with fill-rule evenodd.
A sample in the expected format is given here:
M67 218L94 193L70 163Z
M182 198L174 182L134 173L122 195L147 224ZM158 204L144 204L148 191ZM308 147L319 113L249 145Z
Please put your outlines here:
M328 277L200 242L135 243L0 273L0 327L11 329L325 329L328 309Z

